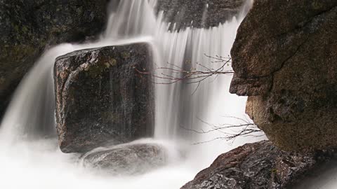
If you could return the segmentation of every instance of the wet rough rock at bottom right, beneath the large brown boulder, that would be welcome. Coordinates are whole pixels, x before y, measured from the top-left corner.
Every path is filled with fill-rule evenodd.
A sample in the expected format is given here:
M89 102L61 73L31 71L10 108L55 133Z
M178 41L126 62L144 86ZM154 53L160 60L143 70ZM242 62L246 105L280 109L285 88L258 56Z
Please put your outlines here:
M246 144L220 155L181 189L282 189L331 160L334 151L289 153L270 141Z

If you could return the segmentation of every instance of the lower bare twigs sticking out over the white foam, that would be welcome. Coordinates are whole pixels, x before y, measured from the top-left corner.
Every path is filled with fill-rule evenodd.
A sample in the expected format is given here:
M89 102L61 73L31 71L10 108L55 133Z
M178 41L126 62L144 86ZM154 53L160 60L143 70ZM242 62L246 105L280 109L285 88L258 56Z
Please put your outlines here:
M227 117L227 118L234 118L239 120L241 123L234 125L234 124L211 124L207 123L204 120L201 120L198 118L198 120L203 123L204 125L207 125L209 130L193 130L193 129L188 129L186 127L182 127L184 130L194 132L197 134L209 134L211 132L220 132L223 134L223 137L217 137L215 139L211 139L210 141L201 141L195 144L205 144L209 143L211 141L216 141L219 139L226 140L226 141L231 141L236 139L237 137L263 137L263 131L258 129L258 127L254 123L250 123L249 120L244 120L242 118L236 118L236 117Z

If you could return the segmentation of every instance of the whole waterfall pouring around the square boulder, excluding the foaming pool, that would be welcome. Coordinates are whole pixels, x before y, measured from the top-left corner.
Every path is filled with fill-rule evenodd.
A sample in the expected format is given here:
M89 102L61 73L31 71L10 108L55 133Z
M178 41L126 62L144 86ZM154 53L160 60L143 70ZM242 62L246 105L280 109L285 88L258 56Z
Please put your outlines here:
M173 75L175 73L171 69L174 66L183 68L186 62L200 70L204 69L202 66L209 69L221 66L211 63L212 59L206 55L216 57L230 54L237 27L244 13L210 29L187 27L182 31L168 31L169 24L164 22L164 13L161 11L157 17L154 14L155 4L155 1L128 0L119 1L117 6L116 2L112 1L107 29L98 42L83 45L63 44L48 50L32 71L27 73L15 92L1 123L4 132L8 131L5 137L8 134L14 134L13 137L18 135L36 137L36 134L44 137L46 134L55 133L52 67L55 57L67 52L132 41L145 42L150 43L155 52L154 68L168 68L157 71L157 75ZM195 134L185 129L198 130L203 127L204 123L200 120L213 113L211 100L223 95L222 101L225 101L225 98L230 96L228 92L225 94L220 92L222 87L225 89L229 85L230 80L231 78L226 76L218 79L211 77L200 83L195 92L198 84L188 85L181 82L155 85L155 137L187 139L187 141L191 140L193 135L195 137ZM157 79L157 83L166 82L167 80ZM226 108L223 108L223 113ZM230 107L231 111L232 109L235 107Z

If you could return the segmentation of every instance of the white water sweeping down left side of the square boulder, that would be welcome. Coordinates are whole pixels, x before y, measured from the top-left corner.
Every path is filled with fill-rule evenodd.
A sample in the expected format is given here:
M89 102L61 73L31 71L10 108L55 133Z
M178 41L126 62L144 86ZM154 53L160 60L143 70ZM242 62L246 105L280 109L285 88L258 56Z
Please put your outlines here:
M48 50L22 79L2 120L1 139L55 134L52 67L58 55L70 50L73 50L70 44Z

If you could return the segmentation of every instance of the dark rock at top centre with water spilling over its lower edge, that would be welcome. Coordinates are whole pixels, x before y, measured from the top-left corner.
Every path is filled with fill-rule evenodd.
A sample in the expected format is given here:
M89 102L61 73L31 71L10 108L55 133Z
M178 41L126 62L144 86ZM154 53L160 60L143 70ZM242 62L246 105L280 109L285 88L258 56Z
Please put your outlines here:
M237 15L245 0L159 0L158 12L164 11L166 22L185 27L216 27ZM171 29L173 25L171 25Z

